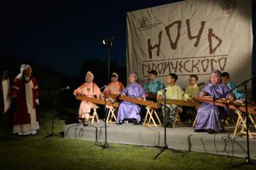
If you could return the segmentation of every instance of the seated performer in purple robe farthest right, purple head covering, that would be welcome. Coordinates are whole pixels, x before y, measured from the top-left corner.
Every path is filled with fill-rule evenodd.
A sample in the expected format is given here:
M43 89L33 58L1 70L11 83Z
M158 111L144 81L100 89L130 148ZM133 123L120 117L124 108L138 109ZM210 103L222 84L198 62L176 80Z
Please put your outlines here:
M199 92L200 97L214 96L216 98L221 97L228 92L227 85L220 82L221 73L218 70L211 71L210 83L205 85L204 89ZM232 94L227 94L223 98L233 101ZM227 112L223 107L215 106L210 103L202 103L198 108L198 119L196 122L195 132L208 131L209 133L219 133L225 131L225 119L227 118ZM219 121L219 119L221 121Z

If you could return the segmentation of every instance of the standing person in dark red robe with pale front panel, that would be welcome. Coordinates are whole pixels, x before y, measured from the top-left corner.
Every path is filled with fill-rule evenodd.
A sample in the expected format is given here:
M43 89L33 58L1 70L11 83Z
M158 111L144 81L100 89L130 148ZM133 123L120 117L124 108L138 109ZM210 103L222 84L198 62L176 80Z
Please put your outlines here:
M10 95L17 99L17 110L14 113L13 134L36 134L39 129L36 105L38 101L38 86L31 77L32 69L28 64L20 66L20 74L13 80Z

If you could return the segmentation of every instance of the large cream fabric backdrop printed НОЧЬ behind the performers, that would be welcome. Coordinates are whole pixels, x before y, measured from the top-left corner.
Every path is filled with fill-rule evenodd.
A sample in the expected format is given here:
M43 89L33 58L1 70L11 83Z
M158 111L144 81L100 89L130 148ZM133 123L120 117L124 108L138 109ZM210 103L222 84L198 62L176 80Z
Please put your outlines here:
M186 87L189 74L207 82L219 69L241 83L252 76L251 12L250 0L188 0L128 12L127 73L136 71L141 83L151 69L162 82L176 73Z

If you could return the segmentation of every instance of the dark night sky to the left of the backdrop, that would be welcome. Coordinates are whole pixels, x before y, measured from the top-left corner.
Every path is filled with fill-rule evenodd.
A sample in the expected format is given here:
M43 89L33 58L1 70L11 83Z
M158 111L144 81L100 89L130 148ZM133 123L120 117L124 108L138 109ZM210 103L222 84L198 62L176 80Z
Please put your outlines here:
M106 59L102 38L116 36L111 60L125 66L126 12L172 2L15 1L3 18L10 25L10 46L2 39L0 50L78 76L84 60Z

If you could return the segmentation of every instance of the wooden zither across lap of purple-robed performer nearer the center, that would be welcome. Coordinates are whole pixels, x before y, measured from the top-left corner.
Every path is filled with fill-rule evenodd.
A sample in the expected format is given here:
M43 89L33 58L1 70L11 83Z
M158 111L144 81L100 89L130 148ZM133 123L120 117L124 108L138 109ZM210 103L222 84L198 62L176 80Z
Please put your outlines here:
M139 104L142 106L148 106L153 109L157 109L161 107L159 103L152 102L152 101L143 101L143 100L140 100L134 97L129 97L129 96L120 96L117 94L106 94L105 96L113 99L119 99L120 101L128 101L128 102Z

